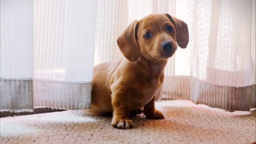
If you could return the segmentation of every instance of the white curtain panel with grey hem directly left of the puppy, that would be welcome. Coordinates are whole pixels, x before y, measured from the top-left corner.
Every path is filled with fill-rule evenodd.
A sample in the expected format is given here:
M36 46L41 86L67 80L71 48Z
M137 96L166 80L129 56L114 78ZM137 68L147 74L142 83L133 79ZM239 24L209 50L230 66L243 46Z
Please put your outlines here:
M35 0L35 107L90 108L97 5Z

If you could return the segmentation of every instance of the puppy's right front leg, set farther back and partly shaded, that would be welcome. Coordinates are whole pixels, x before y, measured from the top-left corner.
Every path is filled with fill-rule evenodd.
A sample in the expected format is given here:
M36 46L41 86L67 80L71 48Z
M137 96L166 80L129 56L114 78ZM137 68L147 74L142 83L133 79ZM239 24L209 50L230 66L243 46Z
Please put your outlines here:
M155 96L144 106L143 114L148 119L164 119L163 113L155 108Z

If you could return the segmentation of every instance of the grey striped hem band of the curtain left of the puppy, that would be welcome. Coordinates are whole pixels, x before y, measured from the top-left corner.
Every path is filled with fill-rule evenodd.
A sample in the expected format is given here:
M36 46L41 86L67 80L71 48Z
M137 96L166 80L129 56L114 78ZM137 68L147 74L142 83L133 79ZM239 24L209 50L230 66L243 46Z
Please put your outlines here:
M34 107L79 110L91 108L90 83L1 78L0 111L33 112Z

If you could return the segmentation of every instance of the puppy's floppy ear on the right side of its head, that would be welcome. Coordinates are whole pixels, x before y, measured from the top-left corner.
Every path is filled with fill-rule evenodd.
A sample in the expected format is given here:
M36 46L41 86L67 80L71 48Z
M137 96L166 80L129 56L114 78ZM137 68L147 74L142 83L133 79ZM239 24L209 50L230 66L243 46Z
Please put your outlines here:
M171 17L171 15L166 13L166 16L171 20L173 25L176 29L176 38L177 38L177 44L181 48L186 48L189 41L189 34L188 34L188 25L184 21Z

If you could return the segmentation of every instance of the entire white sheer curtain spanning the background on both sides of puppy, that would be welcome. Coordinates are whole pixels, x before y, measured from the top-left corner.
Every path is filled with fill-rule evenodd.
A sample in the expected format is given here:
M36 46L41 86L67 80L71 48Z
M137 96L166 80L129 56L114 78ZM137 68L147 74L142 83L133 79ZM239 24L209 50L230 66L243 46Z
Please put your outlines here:
M1 0L0 110L89 108L93 65L124 58L118 35L151 13L185 21L190 34L158 99L256 107L253 0Z

